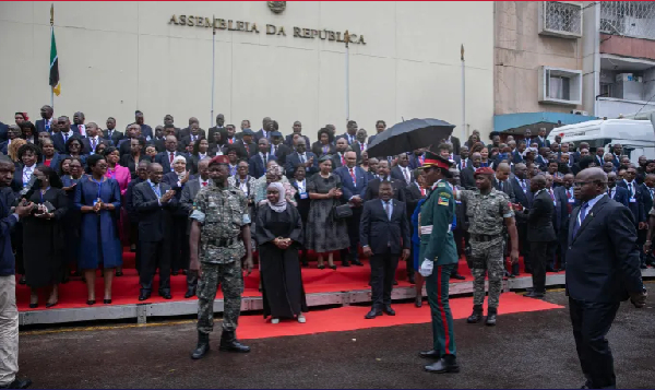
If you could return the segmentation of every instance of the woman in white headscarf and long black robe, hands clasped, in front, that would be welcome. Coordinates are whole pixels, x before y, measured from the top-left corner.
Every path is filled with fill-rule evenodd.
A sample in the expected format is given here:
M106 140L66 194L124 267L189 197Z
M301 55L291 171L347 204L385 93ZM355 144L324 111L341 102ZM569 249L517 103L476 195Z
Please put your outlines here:
M281 182L271 182L266 201L257 213L264 318L271 316L272 323L281 318L295 318L303 323L307 302L298 261L302 221L298 210L285 199L285 192Z

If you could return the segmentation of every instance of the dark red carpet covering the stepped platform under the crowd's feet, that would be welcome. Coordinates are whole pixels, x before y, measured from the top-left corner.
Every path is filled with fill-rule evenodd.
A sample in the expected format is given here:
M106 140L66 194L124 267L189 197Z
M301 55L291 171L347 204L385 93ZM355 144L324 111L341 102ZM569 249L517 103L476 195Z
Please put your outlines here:
M310 257L311 259L311 257ZM331 270L319 270L317 269L315 262L310 262L309 268L302 268L302 281L305 284L305 292L307 294L312 293L331 293L331 292L347 292L347 291L356 291L356 289L369 289L368 285L369 276L370 276L370 268L367 261L365 262L365 267L349 267L343 268L341 267L341 261L336 261L337 269ZM523 267L521 268L523 271ZM133 305L139 304L139 276L136 274L136 270L134 270L134 253L126 251L123 253L123 272L124 275L121 277L114 277L114 287L112 287L112 305ZM464 260L460 261L460 273L466 276L465 281L456 281L451 280L451 282L466 282L472 281L473 276L471 275L471 271L466 265ZM405 263L398 263L398 270L396 272L398 286L410 286L406 279L406 270ZM528 274L522 276L529 276ZM157 276L155 276L157 280ZM172 300L184 300L184 292L187 291L187 281L186 276L179 274L177 276L171 276L171 294ZM39 307L36 309L31 309L28 307L29 304L29 287L25 285L16 284L16 302L20 311L29 311L29 310L45 310L45 304L48 298L49 292L41 291L39 294ZM163 303L167 302L166 299L159 297L156 294L157 281L154 283L153 295L148 300L144 300L145 304L153 303ZM258 291L259 288L259 271L255 270L252 272L250 276L245 279L245 293L243 296L261 296L261 293ZM100 272L97 272L96 279L96 307L103 305L103 292L104 292L104 281L100 277ZM217 296L222 296L222 293L218 292ZM195 299L195 297L190 298ZM80 308L80 307L88 307L86 305L86 284L83 283L80 279L71 280L67 284L61 284L59 287L59 304L48 310L53 309L63 309L63 308ZM362 314L364 316L364 314Z

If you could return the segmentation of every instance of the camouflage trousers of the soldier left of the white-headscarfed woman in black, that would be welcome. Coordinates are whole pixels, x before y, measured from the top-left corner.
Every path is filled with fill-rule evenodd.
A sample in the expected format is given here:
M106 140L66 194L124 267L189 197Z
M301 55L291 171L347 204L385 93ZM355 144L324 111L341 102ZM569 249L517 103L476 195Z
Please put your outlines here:
M214 330L214 298L221 284L223 289L223 329L237 330L241 312L241 261L227 264L201 263L202 276L198 282L198 331Z

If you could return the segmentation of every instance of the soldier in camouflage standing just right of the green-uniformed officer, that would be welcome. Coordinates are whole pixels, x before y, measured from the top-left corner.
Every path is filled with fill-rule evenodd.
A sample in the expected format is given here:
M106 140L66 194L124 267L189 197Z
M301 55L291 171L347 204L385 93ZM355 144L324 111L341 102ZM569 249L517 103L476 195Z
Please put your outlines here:
M489 310L486 323L496 324L498 300L502 289L504 274L504 238L503 227L510 235L512 263L519 261L519 235L514 224L514 212L510 198L493 189L493 169L478 168L475 172L477 191L457 191L458 199L467 202L471 234L471 256L466 258L474 276L473 314L468 323L483 319L483 303L485 302L485 273L489 275ZM504 226L503 226L504 225Z

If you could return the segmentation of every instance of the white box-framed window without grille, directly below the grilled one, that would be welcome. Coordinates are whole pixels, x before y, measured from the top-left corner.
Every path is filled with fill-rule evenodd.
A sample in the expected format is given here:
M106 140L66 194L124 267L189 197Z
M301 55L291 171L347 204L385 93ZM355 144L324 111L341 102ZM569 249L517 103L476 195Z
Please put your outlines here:
M582 104L582 71L541 67L539 102L572 106Z

